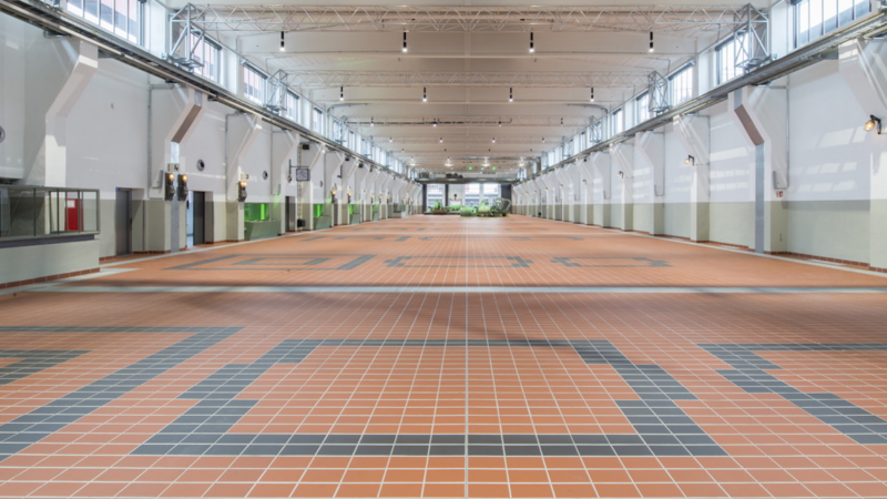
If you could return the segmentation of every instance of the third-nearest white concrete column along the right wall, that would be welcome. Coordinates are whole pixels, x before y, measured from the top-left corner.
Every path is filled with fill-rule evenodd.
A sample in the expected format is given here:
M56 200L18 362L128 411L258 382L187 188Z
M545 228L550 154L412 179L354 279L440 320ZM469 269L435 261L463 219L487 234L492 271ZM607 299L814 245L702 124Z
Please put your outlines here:
M708 116L675 116L674 131L677 140L693 156L690 164L690 240L696 243L708 242L710 165L708 144L711 120Z

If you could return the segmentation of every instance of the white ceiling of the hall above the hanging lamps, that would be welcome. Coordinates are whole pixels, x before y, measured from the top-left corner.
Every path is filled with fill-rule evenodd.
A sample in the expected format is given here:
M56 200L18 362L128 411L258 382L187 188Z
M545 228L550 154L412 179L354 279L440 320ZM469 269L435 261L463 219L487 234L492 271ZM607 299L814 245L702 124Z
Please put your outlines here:
M172 2L171 7L183 4ZM262 2L245 0L223 0L214 6L257 6ZM414 1L411 7L465 6L470 2ZM606 6L614 2L572 2L575 6ZM681 10L680 2L655 1L632 2L636 6L671 6ZM317 6L315 2L286 1L277 7L282 11L293 6ZM485 1L486 7L499 6L555 6L552 1L532 2ZM694 2L699 6L736 6L734 2ZM385 2L361 2L360 6L385 6ZM757 7L765 7L758 4ZM619 6L625 9L626 6ZM224 9L224 8L222 8ZM337 12L357 11L355 7L323 6L317 9L335 9ZM407 8L391 8L406 11ZM469 7L469 9L479 9ZM457 9L458 10L458 9ZM648 20L651 9L648 9ZM655 11L656 9L652 9ZM662 10L665 10L664 8ZM711 12L723 11L715 7ZM290 14L293 12L289 12ZM231 13L228 12L228 16ZM381 17L381 14L379 14ZM386 13L385 19L391 14ZM278 16L282 19L285 16ZM639 16L640 17L640 16ZM230 18L228 18L230 19ZM241 19L257 19L242 16ZM268 18L265 18L268 19ZM276 18L275 18L276 19ZM415 19L415 18L414 18ZM674 18L672 18L673 20ZM554 28L537 23L533 33L534 52L530 53L530 34L527 27L510 26L500 32L487 32L487 28L461 28L452 31L428 31L424 28L408 32L408 52L401 51L404 24L391 22L386 26L368 27L360 16L345 19L344 26L320 28L299 23L299 31L287 30L286 48L279 50L281 27L265 23L262 31L239 27L242 30L224 32L208 31L225 40L230 47L261 68L273 73L277 70L298 71L304 94L315 102L330 106L338 119L357 121L354 128L364 135L374 136L383 146L388 146L396 155L409 161L414 159L418 170L457 171L465 170L472 162L461 162L459 157L509 157L499 164L499 170L508 170L517 164L520 156L537 156L551 149L564 136L571 136L588 125L591 119L602 116L604 108L612 108L640 92L645 84L608 85L612 78L601 77L604 72L650 73L657 71L667 74L701 50L726 35L733 28L730 23L717 31L711 26L705 29L687 29L680 24L653 23L655 50L650 52L649 29L643 22L634 31L583 31ZM640 19L643 21L643 19ZM350 26L349 26L350 22ZM248 24L248 23L247 23ZM585 21L585 24L590 24ZM289 24L293 27L294 24ZM218 26L214 26L218 28ZM641 31L644 29L644 31ZM276 30L276 31L272 31ZM354 31L366 30L366 31ZM322 75L314 74L323 72ZM374 73L383 73L379 81ZM503 75L503 73L508 73ZM509 80L512 73L523 78ZM554 78L558 73L575 77L571 83ZM528 82L527 75L532 78ZM400 78L399 75L402 75ZM510 75L510 77L509 77ZM595 80L595 75L600 77ZM508 77L508 78L507 78ZM397 80L409 80L410 84ZM465 84L467 79L475 79ZM477 79L491 80L491 84L477 83ZM419 83L425 81L427 83ZM455 81L455 82L453 82ZM594 105L590 102L590 86L594 83ZM642 81L642 79L641 79ZM345 99L339 100L340 82L345 84ZM506 83L507 82L507 83ZM557 83L557 85L554 85ZM297 85L296 85L297 86ZM427 89L428 100L422 102L422 88ZM509 102L509 91L513 89L513 102ZM477 123L471 116L497 116L503 124L488 121ZM512 120L519 116L521 120ZM538 120L530 120L537 116ZM468 120L466 120L468 118ZM560 125L559 118L568 118ZM375 125L369 126L373 119ZM457 121L460 124L431 126L417 124L434 120ZM385 124L397 122L398 124ZM514 124L512 124L514 123ZM519 123L519 124L518 124ZM496 143L492 143L496 138ZM543 143L542 140L546 139ZM392 142L389 142L392 139ZM440 143L439 139L443 139ZM401 153L401 150L404 151ZM445 166L447 157L453 166ZM513 159L513 160L512 160Z

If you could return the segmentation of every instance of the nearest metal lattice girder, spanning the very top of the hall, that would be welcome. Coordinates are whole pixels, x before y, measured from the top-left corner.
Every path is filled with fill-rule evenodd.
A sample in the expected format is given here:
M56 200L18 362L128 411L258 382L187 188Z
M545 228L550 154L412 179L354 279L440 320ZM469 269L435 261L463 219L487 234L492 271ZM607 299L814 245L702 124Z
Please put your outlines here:
M207 31L728 31L743 4L589 7L193 4Z

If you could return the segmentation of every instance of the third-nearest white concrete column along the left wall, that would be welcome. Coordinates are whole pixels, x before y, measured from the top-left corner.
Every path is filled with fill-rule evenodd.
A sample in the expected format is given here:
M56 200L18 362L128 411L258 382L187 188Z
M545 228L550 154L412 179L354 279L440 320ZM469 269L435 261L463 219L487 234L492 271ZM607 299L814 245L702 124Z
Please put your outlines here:
M227 241L243 241L244 238L244 213L243 202L237 201L237 184L243 175L243 161L249 147L255 143L258 133L262 131L262 118L258 114L237 113L228 115L227 120L227 143L226 173L227 202L225 203L225 227ZM249 182L246 183L247 197L249 194Z

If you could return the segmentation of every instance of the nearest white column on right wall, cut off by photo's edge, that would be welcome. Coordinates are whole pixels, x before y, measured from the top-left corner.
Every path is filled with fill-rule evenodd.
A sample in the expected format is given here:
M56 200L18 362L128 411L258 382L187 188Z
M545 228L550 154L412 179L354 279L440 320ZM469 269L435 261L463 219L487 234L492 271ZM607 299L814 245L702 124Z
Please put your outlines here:
M887 47L880 40L852 40L839 49L840 74L868 114L887 121ZM868 116L859 116L863 123ZM887 133L887 126L881 133ZM887 136L865 134L869 159L869 259L874 269L887 269Z

